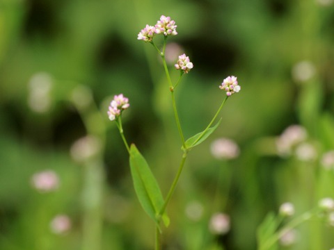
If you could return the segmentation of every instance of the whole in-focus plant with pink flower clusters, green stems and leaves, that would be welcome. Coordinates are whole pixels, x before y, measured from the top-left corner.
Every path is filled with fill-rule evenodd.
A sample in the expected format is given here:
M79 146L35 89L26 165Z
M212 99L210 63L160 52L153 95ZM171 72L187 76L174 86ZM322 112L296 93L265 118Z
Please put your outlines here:
M185 53L180 55L177 59L177 62L175 63L175 69L180 70L180 76L177 81L172 81L165 59L165 51L168 38L170 36L177 35L176 28L177 25L175 25L175 21L171 20L170 17L165 17L164 15L162 15L160 17L160 20L157 21L157 24L155 24L154 26L146 25L145 28L143 28L141 32L138 33L138 40L143 40L144 42L152 44L154 49L157 50L159 56L161 56L162 58L164 71L168 81L168 88L173 106L173 112L175 115L175 123L182 143L181 149L183 153L180 160L180 165L177 173L175 174L173 183L170 185L170 189L168 190L166 198L163 197L162 192L159 188L159 184L156 178L154 178L154 175L152 174L152 171L145 158L141 155L140 151L138 151L135 144L129 145L125 138L125 134L122 128L122 112L129 108L129 99L127 99L127 97L124 97L123 94L115 95L110 103L108 110L109 119L116 122L122 140L129 153L129 165L134 181L134 189L136 191L138 200L141 203L141 206L143 207L145 212L149 215L149 217L151 217L156 225L155 249L161 249L161 222L163 222L165 226L168 226L170 222L170 219L166 215L166 208L168 206L168 203L170 202L170 199L173 197L173 193L175 192L175 188L182 173L182 169L184 168L184 164L186 163L186 158L189 151L193 147L196 147L198 146L198 144L204 142L209 137L209 135L211 135L216 130L218 125L221 123L221 119L219 119L214 126L213 124L216 121L219 113L221 112L225 101L232 94L235 94L241 90L241 87L237 81L237 77L228 76L227 78L225 78L223 80L223 83L221 83L221 85L219 86L221 90L225 91L225 97L223 97L221 106L218 107L216 114L202 132L193 135L188 140L185 140L182 126L180 124L179 115L177 113L175 91L177 90L177 86L180 84L182 76L184 76L184 74L188 74L191 69L193 69L193 63L191 63L189 57L186 56ZM159 49L159 47L157 47L157 45L154 43L154 38L157 35L162 35L164 38L162 49Z

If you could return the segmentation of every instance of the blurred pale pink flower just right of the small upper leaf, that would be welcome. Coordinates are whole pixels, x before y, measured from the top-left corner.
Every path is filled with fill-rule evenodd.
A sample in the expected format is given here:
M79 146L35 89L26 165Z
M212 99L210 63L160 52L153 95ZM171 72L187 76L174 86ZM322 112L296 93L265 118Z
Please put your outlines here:
M211 153L217 159L237 158L239 151L238 145L228 138L217 139L211 144Z

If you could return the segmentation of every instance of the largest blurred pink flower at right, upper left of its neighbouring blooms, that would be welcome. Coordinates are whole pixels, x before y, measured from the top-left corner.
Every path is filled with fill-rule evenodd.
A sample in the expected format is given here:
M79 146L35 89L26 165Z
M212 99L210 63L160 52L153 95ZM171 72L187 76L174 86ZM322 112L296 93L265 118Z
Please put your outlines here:
M276 140L276 147L281 156L288 156L292 148L303 142L308 136L305 128L299 125L288 126Z

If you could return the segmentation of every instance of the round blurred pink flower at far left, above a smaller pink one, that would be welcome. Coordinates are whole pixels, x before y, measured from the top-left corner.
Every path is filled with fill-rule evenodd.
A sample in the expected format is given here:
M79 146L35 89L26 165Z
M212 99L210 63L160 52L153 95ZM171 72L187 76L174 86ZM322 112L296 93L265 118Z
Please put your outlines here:
M31 184L40 192L50 192L56 190L59 186L59 178L56 172L52 170L45 170L33 174Z

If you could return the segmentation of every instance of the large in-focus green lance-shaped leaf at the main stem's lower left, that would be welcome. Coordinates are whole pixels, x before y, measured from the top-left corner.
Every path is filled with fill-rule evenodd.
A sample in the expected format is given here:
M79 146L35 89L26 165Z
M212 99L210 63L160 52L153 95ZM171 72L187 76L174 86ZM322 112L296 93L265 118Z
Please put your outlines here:
M159 226L158 214L162 206L164 206L164 199L148 163L134 144L130 147L129 162L134 181L134 190L136 191L138 200L145 212ZM169 218L166 214L162 215L162 219L164 224L168 226Z

